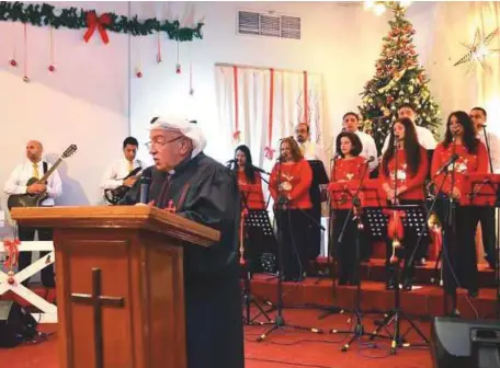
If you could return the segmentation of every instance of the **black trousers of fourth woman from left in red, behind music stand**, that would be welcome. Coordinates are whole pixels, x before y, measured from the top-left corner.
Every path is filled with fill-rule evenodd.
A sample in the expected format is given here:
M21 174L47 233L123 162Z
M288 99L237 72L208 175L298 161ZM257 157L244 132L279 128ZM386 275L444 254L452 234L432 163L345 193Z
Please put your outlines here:
M425 211L425 205L423 200L399 200L400 205L414 205L419 206ZM405 221L404 221L405 222ZM421 246L425 246L425 242L429 242L429 235L420 237L422 228L418 226L407 226L404 229L404 239L401 242L401 248L396 250L396 256L401 260L404 258L404 267L401 271L400 278L402 280L410 280L414 275L414 261L418 260L418 254L421 252ZM419 241L420 240L420 241ZM390 256L393 255L393 240L386 237L386 272L388 279L395 277L394 265L390 264ZM416 248L419 249L416 251ZM427 245L429 248L429 245ZM411 260L411 255L416 253L414 257ZM411 262L410 262L411 261Z

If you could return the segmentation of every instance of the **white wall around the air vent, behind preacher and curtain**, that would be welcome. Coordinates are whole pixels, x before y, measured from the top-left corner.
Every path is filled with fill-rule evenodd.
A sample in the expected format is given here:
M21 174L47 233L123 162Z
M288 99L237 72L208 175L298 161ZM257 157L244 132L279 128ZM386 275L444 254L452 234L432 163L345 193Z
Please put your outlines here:
M368 25L379 27L382 19L366 18L359 7L321 2L193 2L195 20L204 16L204 39L181 44L183 73L175 74L177 44L163 42L163 62L158 65L156 38L133 38L137 65L140 49L144 78L132 79L132 134L147 140L146 127L156 114L180 114L196 118L208 138L206 152L218 160L232 156L231 134L217 122L216 62L308 70L323 74L326 135L339 130L341 116L356 107L359 93L374 69L382 36L373 36ZM137 4L134 5L137 8ZM173 14L183 14L185 3L174 3ZM300 41L238 36L237 10L275 11L302 18ZM366 25L366 22L368 25ZM145 50L148 50L147 53ZM134 59L134 58L133 58ZM189 64L193 62L194 90L189 94ZM279 138L279 137L276 137Z

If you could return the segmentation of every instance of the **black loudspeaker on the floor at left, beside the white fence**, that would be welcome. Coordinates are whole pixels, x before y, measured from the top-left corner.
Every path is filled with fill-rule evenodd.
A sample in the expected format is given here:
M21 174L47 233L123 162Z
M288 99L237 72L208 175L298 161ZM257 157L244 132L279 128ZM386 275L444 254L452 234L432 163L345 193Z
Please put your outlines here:
M0 301L0 347L14 347L38 335L35 319L14 301Z

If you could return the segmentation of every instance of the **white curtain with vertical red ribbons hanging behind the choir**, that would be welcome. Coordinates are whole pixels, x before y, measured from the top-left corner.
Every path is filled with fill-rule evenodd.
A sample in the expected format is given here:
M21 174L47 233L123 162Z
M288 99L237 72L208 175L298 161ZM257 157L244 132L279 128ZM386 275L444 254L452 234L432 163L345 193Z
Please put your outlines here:
M279 140L294 135L298 123L308 123L311 139L322 143L320 74L216 66L216 88L219 122L231 131L234 148L250 148L253 164L270 170Z

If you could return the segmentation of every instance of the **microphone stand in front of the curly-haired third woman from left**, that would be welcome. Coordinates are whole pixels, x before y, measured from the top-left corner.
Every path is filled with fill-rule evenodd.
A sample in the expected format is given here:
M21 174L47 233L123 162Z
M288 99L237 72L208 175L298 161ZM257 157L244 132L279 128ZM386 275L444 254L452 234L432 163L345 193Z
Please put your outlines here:
M353 331L339 331L339 330L330 330L330 333L352 333L353 336L351 340L341 347L341 352L346 352L349 346L356 340L361 338L364 335L368 335L365 333L365 329L363 325L363 318L361 314L361 250L360 250L360 238L361 232L364 230L363 221L362 221L362 207L361 207L361 199L360 199L360 192L363 188L363 182L366 176L366 173L370 172L368 169L368 160L365 162L363 174L361 175L360 185L357 186L356 193L352 196L351 199L351 208L349 209L348 217L345 218L342 230L340 231L338 243L342 244L343 237L345 234L345 229L348 227L348 222L351 220L351 216L354 212L354 217L352 218L353 221L356 221L356 234L355 234L355 278L356 278L356 294L355 294L355 306L354 306L354 313L356 315L356 323L354 325ZM348 245L348 244L346 244ZM342 245L341 245L342 246Z

